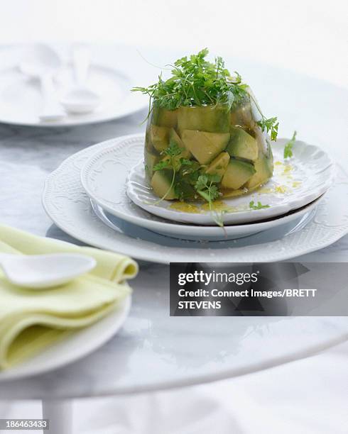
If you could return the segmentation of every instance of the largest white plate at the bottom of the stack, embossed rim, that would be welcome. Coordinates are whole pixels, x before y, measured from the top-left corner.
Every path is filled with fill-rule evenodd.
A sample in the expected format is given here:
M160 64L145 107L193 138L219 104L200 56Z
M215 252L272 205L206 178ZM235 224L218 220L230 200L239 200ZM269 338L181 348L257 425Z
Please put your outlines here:
M124 141L124 138L119 140ZM348 233L348 179L341 169L337 173L335 185L325 194L312 221L302 230L286 236L287 231L284 229L281 234L269 230L241 240L217 243L186 240L180 245L170 245L168 240L173 238L166 237L167 244L160 245L156 242L156 236L161 235L152 233L153 237L149 240L139 238L135 230L138 226L132 229L133 235L121 231L117 233L95 215L80 181L80 172L87 160L98 150L116 143L117 139L107 140L77 152L62 162L45 182L43 206L48 216L65 233L89 245L164 264L170 261L272 262L326 247Z

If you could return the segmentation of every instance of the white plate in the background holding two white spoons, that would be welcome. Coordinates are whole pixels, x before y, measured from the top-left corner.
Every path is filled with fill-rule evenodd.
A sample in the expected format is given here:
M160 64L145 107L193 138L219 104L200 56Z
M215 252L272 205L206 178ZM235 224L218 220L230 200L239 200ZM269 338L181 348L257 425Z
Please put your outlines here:
M67 115L60 121L40 121L40 84L19 72L18 59L21 57L21 50L16 47L12 50L14 52L11 62L8 62L7 67L0 67L0 122L40 127L75 126L121 118L147 106L143 95L130 91L136 86L138 78L131 77L129 72L121 69L92 63L88 84L101 96L102 104L92 113ZM0 50L0 63L3 56L9 57L9 53L3 51ZM72 67L67 64L55 77L59 98L65 95L72 82Z

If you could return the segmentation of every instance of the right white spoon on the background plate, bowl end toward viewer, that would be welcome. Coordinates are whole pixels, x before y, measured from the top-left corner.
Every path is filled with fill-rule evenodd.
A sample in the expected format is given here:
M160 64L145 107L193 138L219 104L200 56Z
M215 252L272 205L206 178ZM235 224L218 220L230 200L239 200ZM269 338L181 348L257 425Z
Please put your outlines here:
M62 106L72 114L94 111L100 104L100 96L87 86L89 49L85 45L78 45L72 50L72 65L75 84L61 100Z

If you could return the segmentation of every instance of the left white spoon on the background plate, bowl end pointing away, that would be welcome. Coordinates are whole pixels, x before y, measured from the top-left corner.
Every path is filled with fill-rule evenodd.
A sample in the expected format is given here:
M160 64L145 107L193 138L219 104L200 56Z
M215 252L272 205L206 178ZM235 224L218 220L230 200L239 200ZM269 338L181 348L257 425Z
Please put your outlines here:
M43 106L41 121L58 121L66 116L53 85L53 76L62 67L58 54L47 45L36 44L26 49L19 69L23 74L40 80Z

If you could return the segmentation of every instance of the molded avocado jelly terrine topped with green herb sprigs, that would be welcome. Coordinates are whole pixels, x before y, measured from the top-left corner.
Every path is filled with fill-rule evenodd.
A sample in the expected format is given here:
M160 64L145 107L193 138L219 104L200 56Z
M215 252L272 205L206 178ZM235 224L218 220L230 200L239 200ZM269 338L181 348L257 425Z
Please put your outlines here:
M148 88L144 162L160 199L212 202L265 184L273 174L277 118L265 118L250 87L208 51L183 57Z

